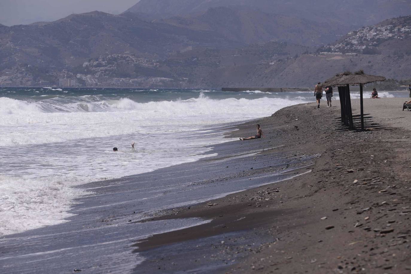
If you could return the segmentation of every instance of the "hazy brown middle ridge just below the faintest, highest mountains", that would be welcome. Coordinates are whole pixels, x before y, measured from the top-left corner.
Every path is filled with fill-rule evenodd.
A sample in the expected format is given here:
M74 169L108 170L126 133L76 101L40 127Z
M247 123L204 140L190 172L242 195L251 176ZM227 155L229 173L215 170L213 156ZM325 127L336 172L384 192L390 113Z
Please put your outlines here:
M306 46L319 46L335 41L339 38L337 34L341 35L349 30L340 25L288 15L268 14L241 6L209 8L200 14L172 16L161 19L160 22L192 30L212 31L229 40L245 44L287 41Z

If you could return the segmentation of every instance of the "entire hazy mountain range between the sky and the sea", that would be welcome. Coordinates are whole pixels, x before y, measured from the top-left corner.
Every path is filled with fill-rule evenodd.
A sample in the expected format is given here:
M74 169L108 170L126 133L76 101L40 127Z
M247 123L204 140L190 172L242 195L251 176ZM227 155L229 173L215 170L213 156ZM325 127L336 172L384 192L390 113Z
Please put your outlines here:
M338 48L333 45L367 22L411 14L410 6L396 0L141 0L120 15L0 25L0 85L58 85L67 77L90 86L304 87L357 69L405 79L410 16L381 22L395 28L378 44L361 38L374 52L363 54L358 44L350 51L356 55L319 53ZM404 30L397 33L398 26Z

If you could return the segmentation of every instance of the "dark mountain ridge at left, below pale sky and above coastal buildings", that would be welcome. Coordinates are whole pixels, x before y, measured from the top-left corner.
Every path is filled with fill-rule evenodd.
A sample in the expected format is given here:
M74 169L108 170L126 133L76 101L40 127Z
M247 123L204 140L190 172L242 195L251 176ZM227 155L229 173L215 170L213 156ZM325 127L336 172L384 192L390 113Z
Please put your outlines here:
M75 66L111 53L165 56L187 46L224 47L225 37L164 23L148 23L135 14L72 14L50 23L0 26L0 70L19 63L40 67ZM235 42L238 44L238 42ZM234 41L231 41L234 44Z

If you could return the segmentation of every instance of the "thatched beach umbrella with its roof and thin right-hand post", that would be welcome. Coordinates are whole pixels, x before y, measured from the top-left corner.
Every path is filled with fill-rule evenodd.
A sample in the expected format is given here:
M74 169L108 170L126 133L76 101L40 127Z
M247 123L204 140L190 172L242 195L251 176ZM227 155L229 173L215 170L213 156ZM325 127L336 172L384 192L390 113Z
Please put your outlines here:
M357 71L355 73L344 72L335 75L324 81L322 86L346 86L349 88L350 85L359 85L360 86L360 105L361 105L361 129L364 130L364 108L363 108L363 85L367 83L373 83L377 81L385 81L386 78L383 76L375 76L365 74L363 70ZM351 109L351 101L350 101Z

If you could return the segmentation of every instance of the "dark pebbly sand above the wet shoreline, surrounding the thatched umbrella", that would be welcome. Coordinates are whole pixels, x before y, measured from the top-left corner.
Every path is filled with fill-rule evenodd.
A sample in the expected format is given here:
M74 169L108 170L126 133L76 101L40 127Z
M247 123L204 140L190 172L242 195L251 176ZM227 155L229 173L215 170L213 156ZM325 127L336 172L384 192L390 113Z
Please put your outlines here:
M359 112L357 101L353 100L354 114ZM241 145L284 145L278 150L296 157L321 154L312 172L160 212L153 220L212 221L136 244L136 251L147 258L136 272L410 273L411 113L401 111L403 101L366 99L365 121L371 130L365 132L341 126L339 101L332 108L324 103L320 109L315 104L291 106L258 120L266 138L238 141ZM255 123L233 134L254 135ZM236 231L241 233L233 234ZM220 238L212 238L215 235ZM224 241L217 242L221 236ZM177 244L189 249L201 239L214 240L207 243L213 251L203 252L204 260L223 260L227 267L193 271L200 261L195 249L192 256L186 252L180 257L174 256L180 249L167 249Z

